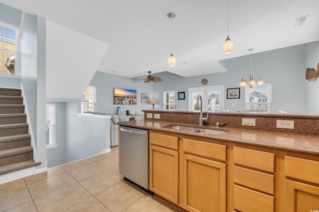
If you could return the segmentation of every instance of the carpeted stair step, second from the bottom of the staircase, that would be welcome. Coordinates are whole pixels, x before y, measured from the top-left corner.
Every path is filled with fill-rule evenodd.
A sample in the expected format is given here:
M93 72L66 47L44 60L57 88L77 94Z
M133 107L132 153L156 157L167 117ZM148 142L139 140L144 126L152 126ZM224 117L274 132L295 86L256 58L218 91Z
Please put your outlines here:
M0 166L33 159L32 146L23 146L0 151Z

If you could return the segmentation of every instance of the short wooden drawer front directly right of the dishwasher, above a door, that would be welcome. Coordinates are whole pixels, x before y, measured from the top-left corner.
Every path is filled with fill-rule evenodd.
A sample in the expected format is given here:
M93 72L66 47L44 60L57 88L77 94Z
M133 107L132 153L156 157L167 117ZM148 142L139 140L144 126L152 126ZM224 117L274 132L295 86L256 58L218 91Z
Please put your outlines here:
M150 143L178 150L178 137L150 133Z

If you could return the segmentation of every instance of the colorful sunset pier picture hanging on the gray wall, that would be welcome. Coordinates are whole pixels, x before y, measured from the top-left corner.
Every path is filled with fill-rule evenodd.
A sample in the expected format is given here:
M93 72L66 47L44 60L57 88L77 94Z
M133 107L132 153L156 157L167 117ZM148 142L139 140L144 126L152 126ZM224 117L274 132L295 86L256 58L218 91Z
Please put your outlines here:
M114 88L114 104L136 105L136 90Z

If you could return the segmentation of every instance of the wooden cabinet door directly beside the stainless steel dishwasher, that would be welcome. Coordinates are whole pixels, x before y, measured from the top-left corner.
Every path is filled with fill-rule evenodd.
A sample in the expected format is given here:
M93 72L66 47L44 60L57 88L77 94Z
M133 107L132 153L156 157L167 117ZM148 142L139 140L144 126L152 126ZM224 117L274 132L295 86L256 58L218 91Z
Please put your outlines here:
M178 151L150 144L150 190L178 204Z

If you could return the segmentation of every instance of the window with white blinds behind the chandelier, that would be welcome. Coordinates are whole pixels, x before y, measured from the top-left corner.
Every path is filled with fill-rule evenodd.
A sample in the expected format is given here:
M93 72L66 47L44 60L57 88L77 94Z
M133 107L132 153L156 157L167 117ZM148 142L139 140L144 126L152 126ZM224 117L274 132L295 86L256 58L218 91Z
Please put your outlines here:
M271 83L245 87L246 109L252 112L271 112Z

